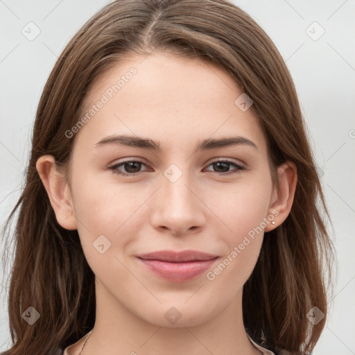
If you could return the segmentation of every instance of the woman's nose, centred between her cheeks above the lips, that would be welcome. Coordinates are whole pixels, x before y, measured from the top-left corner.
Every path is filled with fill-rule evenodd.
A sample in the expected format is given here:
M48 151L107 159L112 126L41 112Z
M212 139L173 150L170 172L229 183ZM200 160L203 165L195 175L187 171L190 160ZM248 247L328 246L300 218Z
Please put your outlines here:
M196 189L191 174L184 172L177 181L162 175L162 186L154 200L151 223L161 232L174 235L194 234L206 223L208 209L204 194Z

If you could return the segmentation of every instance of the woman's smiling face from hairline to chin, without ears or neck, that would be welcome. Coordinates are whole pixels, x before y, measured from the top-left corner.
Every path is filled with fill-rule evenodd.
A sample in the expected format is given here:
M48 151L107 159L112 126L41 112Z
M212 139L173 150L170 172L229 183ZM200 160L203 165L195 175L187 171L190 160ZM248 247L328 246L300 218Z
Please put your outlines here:
M223 69L143 59L117 64L89 93L72 152L73 215L102 297L160 326L168 312L200 324L240 297L274 218L266 137ZM234 144L213 144L226 138ZM166 250L216 259L138 257Z

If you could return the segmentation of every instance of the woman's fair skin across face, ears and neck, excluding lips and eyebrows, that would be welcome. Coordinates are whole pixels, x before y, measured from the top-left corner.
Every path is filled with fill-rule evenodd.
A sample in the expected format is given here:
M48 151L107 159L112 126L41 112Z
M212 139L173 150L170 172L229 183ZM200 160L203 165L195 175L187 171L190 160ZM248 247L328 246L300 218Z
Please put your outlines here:
M279 166L280 187L272 187L261 125L251 110L234 104L241 89L227 71L198 59L159 52L132 57L94 83L89 103L97 103L131 67L137 74L76 133L69 180L52 156L37 161L58 223L78 230L96 275L96 323L83 355L260 354L245 332L241 300L263 232L214 280L204 272L188 282L170 282L135 256L192 249L223 261L272 211L278 213L275 225L268 223L265 232L283 223L293 203L296 166ZM257 149L243 144L195 151L199 140L232 133ZM159 141L162 152L114 144L97 148L101 139L119 134ZM123 158L144 162L116 168L137 171L135 177L110 170ZM211 165L216 159L245 169L218 168ZM164 175L171 164L182 173L175 182ZM230 171L237 173L218 175ZM93 247L100 235L111 243L103 254ZM171 307L181 315L175 324L164 317ZM83 340L67 354L78 355Z

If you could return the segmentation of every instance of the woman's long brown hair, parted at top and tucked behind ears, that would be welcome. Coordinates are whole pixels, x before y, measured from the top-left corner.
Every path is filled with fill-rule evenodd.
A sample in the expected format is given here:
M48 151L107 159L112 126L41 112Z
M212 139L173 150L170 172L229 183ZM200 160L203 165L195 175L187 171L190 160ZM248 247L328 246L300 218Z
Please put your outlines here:
M77 230L58 224L35 164L48 154L65 169L75 141L65 132L83 114L94 79L132 53L149 55L156 49L219 64L235 78L252 98L250 110L266 132L274 184L277 166L287 160L296 164L291 213L265 233L243 288L243 320L253 340L275 352L311 353L327 319L334 246L300 104L282 56L261 27L226 0L118 0L67 44L40 98L24 191L4 228L19 209L15 230L7 234L15 236L16 249L8 293L12 347L6 354L53 354L94 327L94 273ZM40 313L33 325L21 316L29 306ZM306 316L313 306L324 313L318 324Z

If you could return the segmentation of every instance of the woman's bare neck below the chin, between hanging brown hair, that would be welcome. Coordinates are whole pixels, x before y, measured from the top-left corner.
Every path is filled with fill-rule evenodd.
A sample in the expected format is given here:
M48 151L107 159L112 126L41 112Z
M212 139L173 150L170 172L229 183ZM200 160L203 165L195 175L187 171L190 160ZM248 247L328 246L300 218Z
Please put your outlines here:
M88 341L81 355L155 355L168 354L172 349L175 354L259 355L243 325L242 292L215 315L208 310L211 314L205 322L188 317L182 321L182 317L172 327L162 327L137 317L98 283L96 322L89 339L85 337Z

